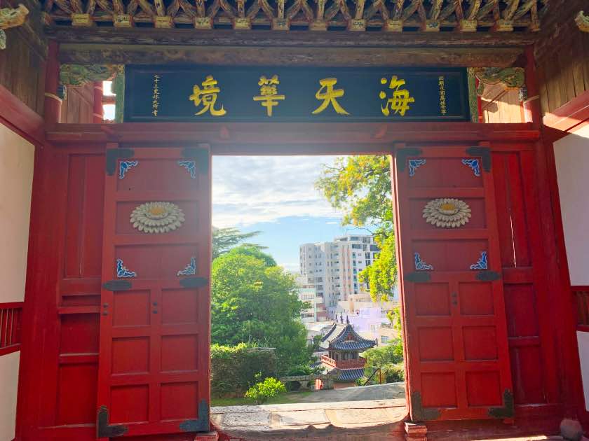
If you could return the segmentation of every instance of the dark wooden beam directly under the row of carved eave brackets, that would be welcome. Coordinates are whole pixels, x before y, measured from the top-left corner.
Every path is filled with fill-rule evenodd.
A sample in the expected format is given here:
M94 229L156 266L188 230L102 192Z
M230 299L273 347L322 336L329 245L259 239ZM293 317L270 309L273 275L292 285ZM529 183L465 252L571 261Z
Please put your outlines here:
M121 29L95 27L46 27L46 34L60 43L204 45L204 46L271 46L325 48L523 48L536 41L537 34L526 32L355 32L291 31L269 32L259 29Z

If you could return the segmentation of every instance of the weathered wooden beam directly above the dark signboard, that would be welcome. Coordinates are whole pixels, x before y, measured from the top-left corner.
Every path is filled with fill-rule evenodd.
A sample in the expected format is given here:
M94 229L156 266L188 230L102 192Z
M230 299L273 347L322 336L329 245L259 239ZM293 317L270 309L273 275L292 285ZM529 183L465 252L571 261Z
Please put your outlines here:
M370 48L90 45L62 43L72 64L212 64L282 66L511 66L523 48Z

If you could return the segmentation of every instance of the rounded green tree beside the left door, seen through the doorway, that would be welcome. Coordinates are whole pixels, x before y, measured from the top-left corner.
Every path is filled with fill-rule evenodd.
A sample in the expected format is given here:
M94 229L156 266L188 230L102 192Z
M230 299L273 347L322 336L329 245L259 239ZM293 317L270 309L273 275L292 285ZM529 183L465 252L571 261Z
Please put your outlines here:
M226 253L212 262L213 343L241 342L276 348L278 373L309 363L306 329L299 321L304 303L295 279L280 267L243 253Z

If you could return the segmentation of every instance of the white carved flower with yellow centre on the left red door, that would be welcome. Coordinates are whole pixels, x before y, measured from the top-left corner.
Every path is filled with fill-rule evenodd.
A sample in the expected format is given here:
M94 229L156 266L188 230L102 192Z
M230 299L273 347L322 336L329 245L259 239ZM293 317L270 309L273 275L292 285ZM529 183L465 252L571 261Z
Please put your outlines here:
M131 213L130 223L144 233L177 230L184 223L184 211L172 202L146 202Z

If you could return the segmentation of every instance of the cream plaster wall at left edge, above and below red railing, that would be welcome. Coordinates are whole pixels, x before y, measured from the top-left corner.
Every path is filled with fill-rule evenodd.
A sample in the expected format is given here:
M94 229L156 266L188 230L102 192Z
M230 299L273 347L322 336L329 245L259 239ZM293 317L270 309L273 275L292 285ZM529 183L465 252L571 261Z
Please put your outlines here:
M34 146L0 124L0 303L25 298ZM20 353L0 356L0 441L15 432Z

